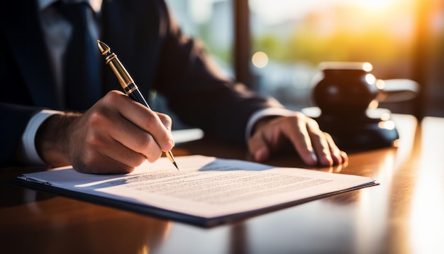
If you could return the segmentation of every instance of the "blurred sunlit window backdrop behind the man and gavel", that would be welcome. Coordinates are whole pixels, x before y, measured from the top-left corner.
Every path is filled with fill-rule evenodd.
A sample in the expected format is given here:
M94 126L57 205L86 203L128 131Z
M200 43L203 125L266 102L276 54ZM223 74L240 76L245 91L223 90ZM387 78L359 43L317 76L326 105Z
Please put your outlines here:
M319 62L357 61L372 63L379 79L414 79L421 85L416 99L380 107L418 118L444 116L443 0L167 4L184 33L202 40L231 77L291 109L313 106L312 79ZM162 107L162 99L153 97Z

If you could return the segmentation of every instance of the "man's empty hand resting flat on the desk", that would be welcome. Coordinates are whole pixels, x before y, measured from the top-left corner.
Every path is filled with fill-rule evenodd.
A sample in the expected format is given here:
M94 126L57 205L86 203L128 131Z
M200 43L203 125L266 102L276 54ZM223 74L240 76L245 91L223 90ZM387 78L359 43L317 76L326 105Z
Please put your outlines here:
M264 118L256 123L248 148L255 160L263 161L290 143L307 165L338 165L348 161L345 152L312 118L296 112L293 116Z

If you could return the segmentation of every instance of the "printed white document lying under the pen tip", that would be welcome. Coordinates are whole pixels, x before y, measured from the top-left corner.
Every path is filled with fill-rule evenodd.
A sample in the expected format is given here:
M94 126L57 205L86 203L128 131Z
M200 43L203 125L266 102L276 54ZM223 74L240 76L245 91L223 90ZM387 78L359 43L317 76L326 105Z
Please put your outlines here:
M41 189L64 190L85 200L100 197L105 204L116 201L121 208L202 226L377 184L369 177L202 155L179 156L176 162L180 171L160 158L126 175L89 175L62 167L19 178Z

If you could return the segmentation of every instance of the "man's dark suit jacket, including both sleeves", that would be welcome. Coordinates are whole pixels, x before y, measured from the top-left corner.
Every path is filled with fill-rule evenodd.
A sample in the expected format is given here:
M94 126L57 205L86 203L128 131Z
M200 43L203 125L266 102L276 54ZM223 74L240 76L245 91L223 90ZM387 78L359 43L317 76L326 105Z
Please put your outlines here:
M140 90L165 95L170 109L190 126L243 142L254 111L281 106L221 77L201 45L182 35L162 0L104 0L101 24L100 39L118 54ZM2 1L0 26L0 165L5 165L35 111L60 106L35 1ZM102 72L103 94L121 90L105 64Z

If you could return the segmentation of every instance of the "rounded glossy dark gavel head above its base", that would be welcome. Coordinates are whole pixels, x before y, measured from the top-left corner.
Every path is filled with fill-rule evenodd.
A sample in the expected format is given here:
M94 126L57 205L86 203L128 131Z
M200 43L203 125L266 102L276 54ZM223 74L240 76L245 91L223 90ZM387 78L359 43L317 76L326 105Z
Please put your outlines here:
M369 62L322 62L319 69L312 96L324 116L364 115L379 93Z

